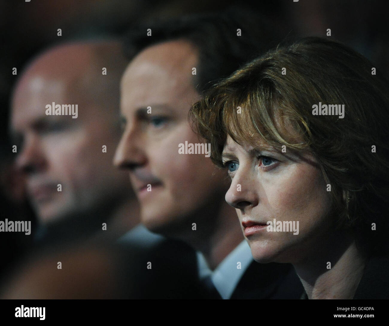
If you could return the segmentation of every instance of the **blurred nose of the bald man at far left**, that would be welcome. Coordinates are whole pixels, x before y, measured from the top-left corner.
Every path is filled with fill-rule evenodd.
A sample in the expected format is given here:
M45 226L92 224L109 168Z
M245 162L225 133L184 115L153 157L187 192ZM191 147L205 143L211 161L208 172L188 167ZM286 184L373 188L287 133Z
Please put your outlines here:
M44 167L46 161L40 148L38 136L31 135L26 137L15 163L19 169L27 173L39 171Z

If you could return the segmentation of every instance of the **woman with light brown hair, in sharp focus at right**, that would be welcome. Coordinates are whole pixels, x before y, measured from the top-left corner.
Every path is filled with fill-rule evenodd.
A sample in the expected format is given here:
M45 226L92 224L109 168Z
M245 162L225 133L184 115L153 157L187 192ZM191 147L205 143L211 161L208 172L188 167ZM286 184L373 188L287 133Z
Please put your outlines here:
M378 75L349 47L305 38L191 110L231 177L226 201L254 259L293 263L310 299L389 293L389 88Z

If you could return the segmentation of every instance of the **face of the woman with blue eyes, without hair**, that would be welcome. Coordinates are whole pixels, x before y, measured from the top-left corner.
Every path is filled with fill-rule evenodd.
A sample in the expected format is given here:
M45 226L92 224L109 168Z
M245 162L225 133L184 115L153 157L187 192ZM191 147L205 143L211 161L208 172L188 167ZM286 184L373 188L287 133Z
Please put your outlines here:
M304 261L334 230L327 185L312 155L241 146L228 137L222 159L232 180L226 201L237 210L256 261Z

